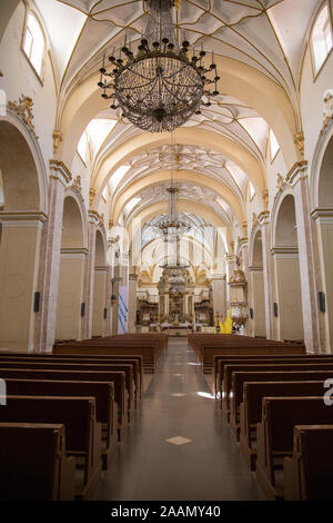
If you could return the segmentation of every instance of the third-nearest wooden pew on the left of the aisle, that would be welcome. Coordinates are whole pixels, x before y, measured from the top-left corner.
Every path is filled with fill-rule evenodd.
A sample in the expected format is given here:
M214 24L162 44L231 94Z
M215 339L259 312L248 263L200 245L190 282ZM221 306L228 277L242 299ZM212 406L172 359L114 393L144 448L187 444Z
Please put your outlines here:
M114 384L107 382L57 382L46 379L6 379L10 396L94 397L95 418L102 426L101 453L103 470L108 468L118 445L118 412Z

